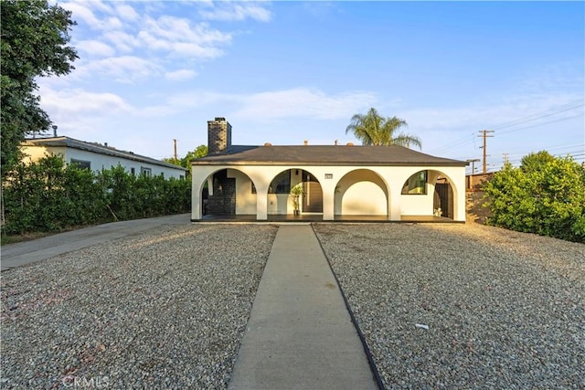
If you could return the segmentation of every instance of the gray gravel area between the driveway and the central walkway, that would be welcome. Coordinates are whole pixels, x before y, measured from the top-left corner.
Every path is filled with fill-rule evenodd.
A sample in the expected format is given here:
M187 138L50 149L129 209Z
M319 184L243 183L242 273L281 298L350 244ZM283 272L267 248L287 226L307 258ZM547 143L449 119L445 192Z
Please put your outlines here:
M10 388L226 388L276 234L174 226L2 273Z

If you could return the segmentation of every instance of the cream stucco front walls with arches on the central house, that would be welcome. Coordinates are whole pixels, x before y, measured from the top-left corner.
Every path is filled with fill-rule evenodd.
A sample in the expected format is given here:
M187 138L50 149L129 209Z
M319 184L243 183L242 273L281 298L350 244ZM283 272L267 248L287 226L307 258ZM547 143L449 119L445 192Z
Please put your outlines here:
M201 219L201 194L203 184L207 181L209 175L214 174L222 169L239 171L241 174L248 176L257 190L256 198L256 217L259 220L266 220L269 214L292 214L291 197L288 195L269 195L268 188L272 179L286 169L299 169L307 171L314 175L321 184L323 189L323 219L333 220L335 212L341 212L344 215L344 204L347 205L347 212L350 206L355 209L352 212L366 214L381 213L388 216L390 220L400 220L403 215L410 216L432 216L432 200L434 193L434 181L437 174L446 176L452 185L453 191L453 219L456 221L465 220L465 168L464 166L317 166L317 165L204 165L197 164L193 167L193 220ZM422 170L430 171L428 180L427 195L401 195L403 184L412 174ZM231 173L234 175L234 173ZM237 214L250 214L253 210L251 203L253 199L251 194L246 194L250 183L243 180L241 176L241 191L238 190L237 196ZM294 175L292 175L294 177ZM352 178L355 180L352 182ZM353 183L353 184L352 184ZM292 183L293 184L293 183ZM351 189L357 184L356 189L365 190L366 193L357 195L357 191ZM361 187L361 188L360 188ZM336 188L346 188L344 195L340 198ZM379 190L378 190L379 188ZM349 190L349 191L348 191ZM250 190L251 193L251 190ZM389 196L386 196L388 194ZM371 197L370 197L371 195ZM345 196L347 196L346 199ZM356 201L361 197L361 202L368 206L355 206ZM286 201L284 201L286 199ZM340 202L341 199L341 202ZM241 208L239 204L243 203ZM370 204L375 204L371 206ZM286 206L286 212L284 206ZM384 212L383 210L387 210ZM244 212L245 211L245 212ZM252 213L253 214L253 213Z

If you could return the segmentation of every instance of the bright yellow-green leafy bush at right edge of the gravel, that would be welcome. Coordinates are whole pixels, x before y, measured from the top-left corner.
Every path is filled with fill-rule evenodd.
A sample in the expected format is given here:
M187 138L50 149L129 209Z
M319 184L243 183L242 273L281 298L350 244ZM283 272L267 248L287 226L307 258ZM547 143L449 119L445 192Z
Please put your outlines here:
M585 242L585 168L570 157L531 153L484 184L488 224Z

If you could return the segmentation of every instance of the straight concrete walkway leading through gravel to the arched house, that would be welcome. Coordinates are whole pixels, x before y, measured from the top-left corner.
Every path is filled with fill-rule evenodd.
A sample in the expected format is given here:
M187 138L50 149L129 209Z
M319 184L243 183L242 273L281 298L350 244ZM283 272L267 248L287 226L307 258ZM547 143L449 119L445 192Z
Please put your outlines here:
M229 389L377 389L313 228L281 226Z

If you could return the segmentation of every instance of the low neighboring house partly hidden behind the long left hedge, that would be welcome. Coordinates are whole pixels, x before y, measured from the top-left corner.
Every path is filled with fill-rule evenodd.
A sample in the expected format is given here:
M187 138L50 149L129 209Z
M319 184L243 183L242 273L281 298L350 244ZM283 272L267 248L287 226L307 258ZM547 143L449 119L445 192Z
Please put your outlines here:
M91 171L110 169L121 164L130 174L163 175L184 179L185 168L132 152L120 151L107 144L83 142L69 137L27 139L22 143L25 158L37 161L47 154L61 155L65 163L74 163Z

